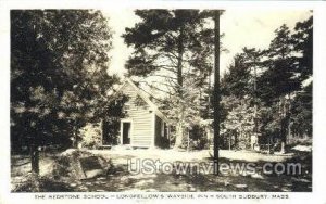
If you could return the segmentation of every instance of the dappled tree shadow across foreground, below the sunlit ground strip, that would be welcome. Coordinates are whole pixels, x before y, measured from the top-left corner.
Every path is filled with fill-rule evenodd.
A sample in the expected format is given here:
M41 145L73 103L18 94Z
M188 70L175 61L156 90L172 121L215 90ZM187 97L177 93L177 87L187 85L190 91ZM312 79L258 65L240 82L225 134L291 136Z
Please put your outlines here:
M203 158L200 162L212 162ZM246 164L246 160L229 160L222 157L220 163ZM266 161L258 161L256 175L228 174L137 174L128 171L127 165L117 164L106 175L92 179L55 180L41 177L36 182L29 180L14 192L120 192L120 191L160 191L160 192L196 192L196 191L233 191L233 192L311 192L312 191L312 153L296 152L296 156L283 162L301 164L301 174L260 174ZM276 163L271 163L275 165ZM38 187L34 184L38 183Z

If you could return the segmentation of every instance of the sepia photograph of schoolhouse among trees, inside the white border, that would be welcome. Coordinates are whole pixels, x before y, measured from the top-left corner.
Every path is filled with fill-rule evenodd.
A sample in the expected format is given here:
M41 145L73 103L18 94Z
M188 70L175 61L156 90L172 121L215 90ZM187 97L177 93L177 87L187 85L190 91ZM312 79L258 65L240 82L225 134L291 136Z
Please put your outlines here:
M12 196L314 191L312 8L8 15Z

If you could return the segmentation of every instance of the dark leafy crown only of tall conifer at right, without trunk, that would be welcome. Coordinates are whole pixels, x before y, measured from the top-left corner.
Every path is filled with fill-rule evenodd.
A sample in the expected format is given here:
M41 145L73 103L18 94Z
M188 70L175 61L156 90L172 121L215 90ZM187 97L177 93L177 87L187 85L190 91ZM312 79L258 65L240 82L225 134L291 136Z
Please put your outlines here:
M299 90L301 80L297 76L293 61L293 47L290 30L286 25L275 30L268 50L264 51L265 67L267 69L259 79L259 95L266 104Z

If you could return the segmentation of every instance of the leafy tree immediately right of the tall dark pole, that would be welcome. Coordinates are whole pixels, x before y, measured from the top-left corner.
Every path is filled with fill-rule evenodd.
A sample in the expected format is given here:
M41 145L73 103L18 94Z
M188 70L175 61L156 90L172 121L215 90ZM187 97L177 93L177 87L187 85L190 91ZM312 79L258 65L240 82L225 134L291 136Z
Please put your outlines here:
M261 116L256 98L260 55L259 50L243 48L241 53L235 55L234 64L229 65L222 78L222 102L226 111L222 120L223 132L228 138L235 136L236 141L241 138L244 142L242 148L249 146L249 142L252 148L256 144L261 127L258 123ZM238 145L237 142L236 148Z

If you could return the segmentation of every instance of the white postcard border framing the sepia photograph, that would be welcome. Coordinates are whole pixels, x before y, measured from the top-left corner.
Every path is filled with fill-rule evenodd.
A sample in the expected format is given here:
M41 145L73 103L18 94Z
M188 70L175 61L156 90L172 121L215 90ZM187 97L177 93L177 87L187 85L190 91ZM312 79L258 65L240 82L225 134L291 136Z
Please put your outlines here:
M325 2L305 2L305 1L281 1L281 2L243 2L243 1L108 1L108 0L57 0L57 1L14 1L5 0L0 1L0 100L1 104L1 142L0 142L0 161L2 171L0 174L1 192L0 203L57 203L57 202L74 202L74 200L35 200L34 193L10 193L10 37L9 37L9 25L10 9L150 9L150 8L184 8L184 9L260 9L260 10L294 10L294 9L312 9L314 10L314 107L313 107L313 193L287 193L290 195L289 200L261 200L262 203L326 203L326 7ZM66 193L71 194L71 193ZM74 193L76 194L76 193ZM83 193L77 193L83 194ZM96 193L92 193L96 194ZM105 193L105 194L121 194L121 193ZM124 193L129 194L129 193ZM133 194L133 193L131 193ZM167 194L167 193L163 193ZM185 193L181 193L185 194ZM195 193L196 194L196 193ZM206 193L206 194L212 194ZM218 193L218 194L238 194L238 193ZM242 193L241 193L242 194ZM260 194L260 193L250 193ZM266 193L273 194L273 193ZM109 203L108 200L78 200L78 203L90 203L90 202ZM176 200L154 200L155 203L174 203ZM212 203L252 203L252 200L199 200L203 202ZM152 202L150 200L113 200L113 202L130 203L130 202ZM177 202L184 203L197 203L197 200L177 200Z

